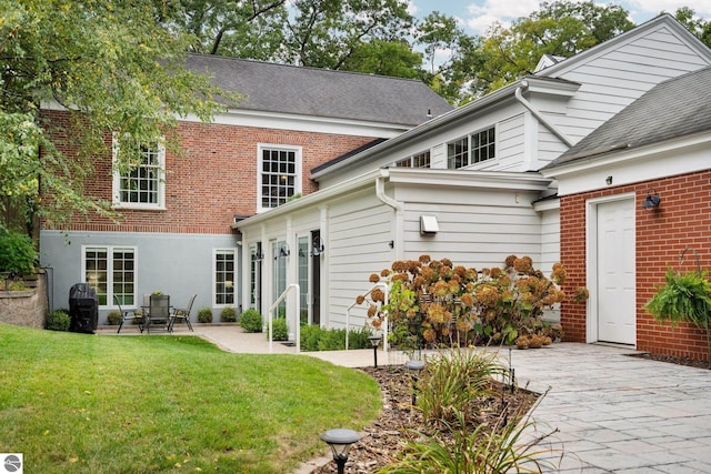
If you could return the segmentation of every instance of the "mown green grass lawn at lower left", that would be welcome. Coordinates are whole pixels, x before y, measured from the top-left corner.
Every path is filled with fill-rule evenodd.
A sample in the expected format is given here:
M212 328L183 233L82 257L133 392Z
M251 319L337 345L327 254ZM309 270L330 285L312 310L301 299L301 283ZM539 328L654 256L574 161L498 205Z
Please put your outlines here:
M0 452L28 473L287 473L381 406L375 381L308 356L3 323L0 386Z

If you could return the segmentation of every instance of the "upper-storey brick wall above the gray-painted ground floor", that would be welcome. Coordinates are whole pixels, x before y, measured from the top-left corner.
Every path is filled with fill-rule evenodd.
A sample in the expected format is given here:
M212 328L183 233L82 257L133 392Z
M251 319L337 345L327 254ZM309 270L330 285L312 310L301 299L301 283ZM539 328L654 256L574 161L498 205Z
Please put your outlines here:
M44 111L54 124L67 124L67 114ZM317 191L310 170L359 148L373 137L351 137L290 130L180 122L182 155L166 152L166 210L121 210L119 224L98 215L74 219L73 231L231 234L233 215L257 210L257 144L302 148L302 194ZM58 148L76 153L71 140L60 135ZM110 145L111 137L104 137ZM110 147L109 147L110 148ZM94 162L86 192L111 200L111 157Z

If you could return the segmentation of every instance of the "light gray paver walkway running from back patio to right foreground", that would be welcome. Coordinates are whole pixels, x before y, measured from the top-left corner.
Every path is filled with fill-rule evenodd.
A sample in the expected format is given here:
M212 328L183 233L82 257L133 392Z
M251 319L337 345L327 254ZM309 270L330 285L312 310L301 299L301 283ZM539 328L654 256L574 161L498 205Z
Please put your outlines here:
M186 334L184 330L178 330ZM123 334L123 331L122 331ZM192 333L191 333L192 334ZM269 353L263 334L196 325L196 334L231 352ZM273 353L296 353L274 342ZM631 357L634 351L557 343L501 350L520 386L548 395L534 411L561 473L711 473L711 371ZM303 353L334 364L372 365L373 351ZM379 351L379 364L403 363Z

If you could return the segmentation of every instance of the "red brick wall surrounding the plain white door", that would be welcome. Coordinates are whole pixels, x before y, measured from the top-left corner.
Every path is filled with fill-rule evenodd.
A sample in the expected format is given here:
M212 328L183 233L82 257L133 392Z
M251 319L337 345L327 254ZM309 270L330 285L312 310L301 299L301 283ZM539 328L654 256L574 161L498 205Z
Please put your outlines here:
M661 198L657 210L642 209L647 192ZM680 254L689 246L699 255L702 270L711 268L711 171L609 188L560 200L561 262L568 269L564 290L585 284L585 202L590 199L634 192L637 213L637 349L657 354L708 357L705 333L687 323L670 327L659 324L644 305L655 288L664 283L669 268L697 270L692 250L682 264ZM585 342L585 304L564 303L561 324L567 341Z

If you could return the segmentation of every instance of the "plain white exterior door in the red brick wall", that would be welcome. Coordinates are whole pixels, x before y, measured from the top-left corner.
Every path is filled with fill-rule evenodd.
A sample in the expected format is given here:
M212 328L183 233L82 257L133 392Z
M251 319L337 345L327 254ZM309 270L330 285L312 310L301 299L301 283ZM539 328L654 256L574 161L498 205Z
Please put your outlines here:
M598 223L598 340L635 344L634 200L600 203Z

